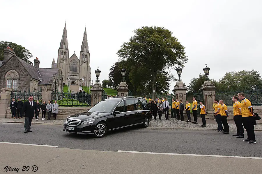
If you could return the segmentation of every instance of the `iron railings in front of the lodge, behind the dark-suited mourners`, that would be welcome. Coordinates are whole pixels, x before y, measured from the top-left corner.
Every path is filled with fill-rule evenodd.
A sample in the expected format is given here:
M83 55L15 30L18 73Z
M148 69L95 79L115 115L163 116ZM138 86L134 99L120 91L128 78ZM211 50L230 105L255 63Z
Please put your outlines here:
M12 103L12 99L15 99L15 101L17 101L17 99L21 99L21 101L24 103L26 101L28 101L29 96L33 97L33 101L39 101L40 104L42 104L42 93L39 92L26 92L26 91L15 91L11 93L11 102L10 105Z

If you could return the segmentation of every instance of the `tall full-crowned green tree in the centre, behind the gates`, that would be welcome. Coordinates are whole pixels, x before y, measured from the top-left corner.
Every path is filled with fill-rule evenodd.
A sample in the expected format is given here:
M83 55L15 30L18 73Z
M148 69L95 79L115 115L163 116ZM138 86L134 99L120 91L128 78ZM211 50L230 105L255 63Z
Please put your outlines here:
M130 70L132 84L151 84L154 98L158 79L168 75L168 69L177 65L184 67L188 60L185 47L164 27L143 26L133 32L134 36L123 43L117 55L123 60L133 62L130 68L136 72ZM168 83L165 85L169 87Z

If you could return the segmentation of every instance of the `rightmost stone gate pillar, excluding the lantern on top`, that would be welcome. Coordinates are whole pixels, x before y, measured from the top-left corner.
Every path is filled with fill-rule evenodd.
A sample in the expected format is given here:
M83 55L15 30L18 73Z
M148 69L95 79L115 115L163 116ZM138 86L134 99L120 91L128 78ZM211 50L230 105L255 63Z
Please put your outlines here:
M205 81L201 86L201 91L203 93L203 104L206 106L206 112L208 115L206 117L213 118L213 103L216 95L216 87L211 81ZM199 101L197 101L199 102Z

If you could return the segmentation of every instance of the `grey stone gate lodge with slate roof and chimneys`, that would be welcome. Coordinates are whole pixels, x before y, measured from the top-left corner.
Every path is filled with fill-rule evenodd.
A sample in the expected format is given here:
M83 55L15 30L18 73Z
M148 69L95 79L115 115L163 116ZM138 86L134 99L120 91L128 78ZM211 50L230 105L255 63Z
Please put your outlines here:
M36 57L34 65L23 61L11 48L4 49L4 59L0 61L0 88L15 91L39 91L52 89L63 91L63 76L59 68L39 68Z

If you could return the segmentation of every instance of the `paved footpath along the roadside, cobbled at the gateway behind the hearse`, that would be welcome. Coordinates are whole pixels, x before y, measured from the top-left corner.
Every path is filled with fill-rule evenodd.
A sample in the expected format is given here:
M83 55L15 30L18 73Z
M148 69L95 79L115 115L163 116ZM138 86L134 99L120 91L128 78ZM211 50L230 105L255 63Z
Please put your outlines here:
M58 120L38 120L33 119L32 124L51 124L51 125L63 125L65 119ZM0 118L0 122L4 123L24 123L24 119L10 119L10 118ZM206 128L200 127L202 124L201 118L198 118L199 124L192 124L190 122L180 121L177 119L169 118L169 120L153 120L149 122L148 128L160 128L160 129L216 129L217 123L213 119L206 119ZM233 120L228 120L229 129L236 130L236 125ZM255 126L256 131L262 131L262 124L258 123Z

